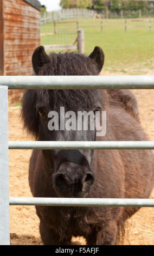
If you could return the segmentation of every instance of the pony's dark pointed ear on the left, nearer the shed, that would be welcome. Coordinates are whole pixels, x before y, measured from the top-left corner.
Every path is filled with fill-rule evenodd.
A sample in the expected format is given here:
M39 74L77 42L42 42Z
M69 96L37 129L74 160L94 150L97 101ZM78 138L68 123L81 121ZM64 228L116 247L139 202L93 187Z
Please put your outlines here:
M33 69L36 74L39 73L39 69L46 63L49 62L49 56L44 51L43 46L39 46L35 49L32 56Z

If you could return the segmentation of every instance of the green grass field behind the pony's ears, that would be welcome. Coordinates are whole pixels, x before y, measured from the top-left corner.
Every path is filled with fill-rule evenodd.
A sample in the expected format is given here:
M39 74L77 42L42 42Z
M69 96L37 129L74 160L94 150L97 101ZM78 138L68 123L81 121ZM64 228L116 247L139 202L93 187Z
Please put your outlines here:
M149 32L149 19L127 19L125 33L124 20L103 20L101 33L100 20L79 19L79 27L85 30L85 53L100 46L105 53L105 71L126 75L154 71L154 19L151 21ZM53 23L41 26L41 33L53 31ZM41 36L41 44L71 44L75 37L76 23L57 24L56 35Z

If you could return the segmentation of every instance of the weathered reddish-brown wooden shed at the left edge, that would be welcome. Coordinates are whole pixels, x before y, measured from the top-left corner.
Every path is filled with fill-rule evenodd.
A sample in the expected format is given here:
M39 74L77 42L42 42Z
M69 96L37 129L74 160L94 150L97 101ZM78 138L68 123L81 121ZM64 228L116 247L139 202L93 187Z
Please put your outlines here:
M40 45L40 10L37 0L0 0L0 75L31 75L31 55ZM21 91L10 90L9 102Z

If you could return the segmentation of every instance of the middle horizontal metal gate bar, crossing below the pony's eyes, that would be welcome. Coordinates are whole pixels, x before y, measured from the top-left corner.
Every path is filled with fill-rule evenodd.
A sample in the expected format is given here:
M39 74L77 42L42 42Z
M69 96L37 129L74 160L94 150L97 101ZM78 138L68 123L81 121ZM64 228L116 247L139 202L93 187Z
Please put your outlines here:
M154 141L9 141L9 149L154 149Z

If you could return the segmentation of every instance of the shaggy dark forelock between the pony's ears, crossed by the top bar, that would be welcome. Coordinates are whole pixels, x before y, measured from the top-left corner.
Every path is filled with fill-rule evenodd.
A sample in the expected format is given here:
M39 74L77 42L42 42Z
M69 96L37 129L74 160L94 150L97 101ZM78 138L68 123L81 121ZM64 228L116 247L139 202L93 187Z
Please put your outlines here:
M40 68L37 75L98 75L96 63L84 54L75 52L56 54L52 52L48 56L49 62ZM37 97L40 104L41 102L45 103L48 108L58 104L59 106L66 106L72 111L79 110L79 107L88 111L94 101L92 90L38 90Z

